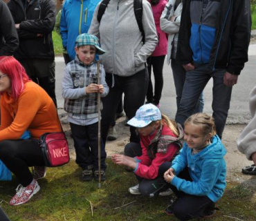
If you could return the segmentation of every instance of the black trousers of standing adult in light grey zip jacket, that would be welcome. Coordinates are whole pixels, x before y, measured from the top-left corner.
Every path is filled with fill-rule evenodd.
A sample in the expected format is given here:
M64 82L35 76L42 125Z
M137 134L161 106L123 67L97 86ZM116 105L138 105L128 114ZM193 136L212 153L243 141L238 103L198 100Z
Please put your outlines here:
M129 77L121 77L118 75L106 74L106 82L109 86L109 94L107 97L102 97L102 140L104 144L107 140L107 131L109 125L115 119L118 104L124 93L124 104L126 115L129 119L135 116L136 111L145 102L145 96L148 84L148 73L146 69L140 70L138 73ZM140 142L140 137L136 133L136 128L130 126L130 142Z

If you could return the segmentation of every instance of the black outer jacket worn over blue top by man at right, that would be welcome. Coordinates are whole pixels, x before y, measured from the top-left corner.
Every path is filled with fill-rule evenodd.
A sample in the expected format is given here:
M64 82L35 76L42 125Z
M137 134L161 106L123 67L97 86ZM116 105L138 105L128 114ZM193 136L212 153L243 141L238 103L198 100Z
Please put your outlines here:
M177 60L181 64L193 61L190 48L190 2L183 1ZM220 1L217 13L218 24L214 44L210 53L209 65L214 68L226 68L229 73L239 75L248 61L250 43L250 0Z

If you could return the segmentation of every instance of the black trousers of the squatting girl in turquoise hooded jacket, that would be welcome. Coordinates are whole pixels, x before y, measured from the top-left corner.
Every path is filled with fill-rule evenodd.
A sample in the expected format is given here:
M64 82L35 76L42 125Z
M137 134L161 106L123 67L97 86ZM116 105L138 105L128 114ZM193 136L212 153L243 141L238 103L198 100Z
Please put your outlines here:
M165 162L159 167L158 175L163 177L165 171L170 169L171 162ZM179 173L178 177L184 180L192 181L188 169ZM167 183L167 182L166 182ZM174 204L174 215L179 220L192 220L197 218L207 209L214 209L214 202L208 196L190 195L183 191L178 191L175 186L168 184L178 200Z

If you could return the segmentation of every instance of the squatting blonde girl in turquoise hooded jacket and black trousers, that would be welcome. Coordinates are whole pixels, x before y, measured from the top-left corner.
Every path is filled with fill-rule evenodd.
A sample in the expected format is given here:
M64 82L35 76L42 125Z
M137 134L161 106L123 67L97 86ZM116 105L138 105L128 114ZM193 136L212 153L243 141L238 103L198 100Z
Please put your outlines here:
M165 211L179 220L210 217L226 188L226 149L209 115L196 113L184 126L185 143L180 154L159 168L159 175L176 195Z

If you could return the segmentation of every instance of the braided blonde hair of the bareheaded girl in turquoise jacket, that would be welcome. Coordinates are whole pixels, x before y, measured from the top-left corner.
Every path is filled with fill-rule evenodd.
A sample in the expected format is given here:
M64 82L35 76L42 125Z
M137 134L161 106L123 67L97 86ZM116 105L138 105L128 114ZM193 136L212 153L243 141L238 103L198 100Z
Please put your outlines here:
M212 134L212 137L216 135L214 118L205 113L196 113L191 115L186 119L184 126L186 124L200 125L202 127L203 135L208 135L209 133Z

